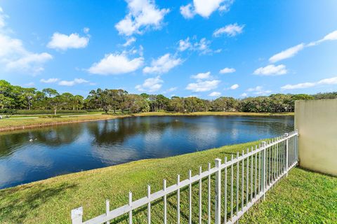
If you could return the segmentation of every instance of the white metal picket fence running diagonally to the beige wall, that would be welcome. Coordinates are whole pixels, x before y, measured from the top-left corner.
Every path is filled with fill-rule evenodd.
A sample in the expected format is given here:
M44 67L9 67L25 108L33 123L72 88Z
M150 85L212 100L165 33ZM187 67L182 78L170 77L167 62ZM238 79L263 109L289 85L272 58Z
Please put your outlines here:
M154 223L152 221L152 203L159 201L162 203L162 223L168 222L167 197L175 196L176 215L169 217L169 223L180 223L180 191L188 191L188 205L185 207L184 217L188 223L235 223L239 221L246 211L249 210L261 199L265 198L265 193L279 179L287 176L291 168L298 162L298 132L294 131L286 133L282 137L277 137L270 141L263 141L255 148L247 148L242 154L237 153L236 157L231 156L231 160L221 162L220 159L215 160L215 167L211 168L209 163L208 170L202 172L201 167L199 174L192 176L192 172L188 173L188 179L180 181L178 175L177 183L173 186L166 186L166 180L163 182L163 189L156 193L151 193L150 186L147 186L147 196L133 201L132 193L128 195L128 204L114 210L110 210L110 202L106 201L106 213L88 221L82 221L83 208L73 209L71 213L72 223L79 224L96 224L96 223L119 223L116 221L121 216L124 222L140 223L133 218L133 211L140 207L147 207L143 211L146 213L144 221L141 223ZM241 170L241 171L240 171ZM214 182L213 185L211 182ZM202 183L206 182L206 188L202 188ZM192 186L198 186L198 214L197 217L192 216ZM206 193L203 194L203 190ZM213 192L213 194L211 193ZM215 192L215 193L214 193ZM195 190L194 190L195 193ZM204 198L202 198L204 195ZM211 197L213 195L213 197ZM205 197L206 196L206 197ZM206 199L205 199L206 198ZM194 203L195 204L195 203ZM156 214L158 216L158 214ZM160 221L160 222L161 222ZM155 221L158 223L159 221Z

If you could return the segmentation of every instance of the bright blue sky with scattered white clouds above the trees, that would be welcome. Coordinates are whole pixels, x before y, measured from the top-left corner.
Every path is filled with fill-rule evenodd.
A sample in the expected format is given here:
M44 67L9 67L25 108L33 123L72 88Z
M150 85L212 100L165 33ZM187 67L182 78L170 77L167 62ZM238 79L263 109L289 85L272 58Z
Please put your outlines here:
M86 96L337 91L337 1L0 0L0 78Z

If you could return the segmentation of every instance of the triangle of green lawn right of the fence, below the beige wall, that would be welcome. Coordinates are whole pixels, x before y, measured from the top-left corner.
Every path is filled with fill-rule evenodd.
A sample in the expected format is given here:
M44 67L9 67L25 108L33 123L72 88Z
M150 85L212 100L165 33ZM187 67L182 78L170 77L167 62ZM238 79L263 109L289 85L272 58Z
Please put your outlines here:
M337 223L337 177L294 168L240 223Z

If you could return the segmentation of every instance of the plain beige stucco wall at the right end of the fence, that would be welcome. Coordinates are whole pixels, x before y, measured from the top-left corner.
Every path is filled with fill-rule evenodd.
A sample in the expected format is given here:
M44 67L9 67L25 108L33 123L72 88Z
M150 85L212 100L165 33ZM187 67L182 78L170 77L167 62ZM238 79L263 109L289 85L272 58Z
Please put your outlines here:
M300 166L337 176L337 99L295 102Z

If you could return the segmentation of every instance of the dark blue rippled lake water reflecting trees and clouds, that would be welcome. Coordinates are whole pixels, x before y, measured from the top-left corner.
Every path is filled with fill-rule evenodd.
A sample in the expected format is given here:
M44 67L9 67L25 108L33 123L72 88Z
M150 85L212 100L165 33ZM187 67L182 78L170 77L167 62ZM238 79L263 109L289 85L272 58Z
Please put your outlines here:
M292 116L154 116L2 134L0 188L133 160L277 137L292 130Z

